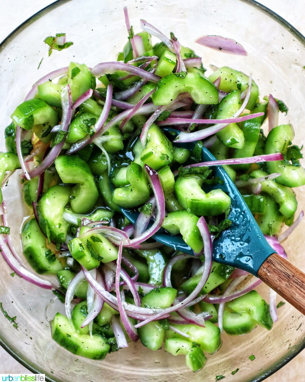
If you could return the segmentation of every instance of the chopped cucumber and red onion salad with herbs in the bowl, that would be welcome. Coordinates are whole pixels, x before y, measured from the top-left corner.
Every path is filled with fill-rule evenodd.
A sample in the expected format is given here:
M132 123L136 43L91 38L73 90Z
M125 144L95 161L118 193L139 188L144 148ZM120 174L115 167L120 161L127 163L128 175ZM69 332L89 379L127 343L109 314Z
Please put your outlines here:
M271 330L278 319L275 292L265 301L258 278L213 262L213 241L230 230L231 198L217 188L213 163L202 163L202 147L284 257L280 242L303 218L292 189L305 185L301 148L292 126L278 125L286 105L260 94L251 73L207 70L208 57L173 33L144 20L134 33L124 15L129 36L117 61L54 70L11 114L2 186L16 171L30 218L21 259L0 194L1 254L12 272L65 304L50 335L66 350L102 360L140 340L185 356L197 372L224 332ZM196 42L247 55L224 37ZM193 253L156 241L157 233L181 235Z

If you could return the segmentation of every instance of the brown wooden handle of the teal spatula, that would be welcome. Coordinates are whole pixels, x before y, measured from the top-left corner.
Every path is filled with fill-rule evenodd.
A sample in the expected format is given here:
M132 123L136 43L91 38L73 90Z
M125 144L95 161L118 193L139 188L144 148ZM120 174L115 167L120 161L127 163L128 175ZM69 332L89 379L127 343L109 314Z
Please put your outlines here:
M273 253L257 272L258 277L286 301L305 314L305 274Z

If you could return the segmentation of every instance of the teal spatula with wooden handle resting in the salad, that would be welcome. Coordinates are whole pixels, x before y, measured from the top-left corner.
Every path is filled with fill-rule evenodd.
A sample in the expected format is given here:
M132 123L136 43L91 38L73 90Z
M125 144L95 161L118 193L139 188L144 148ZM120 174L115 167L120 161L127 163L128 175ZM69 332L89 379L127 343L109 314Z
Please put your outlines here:
M179 133L173 129L164 131L169 133L171 140ZM192 150L194 143L183 146L177 144L177 146ZM202 147L202 162L210 160L216 159L208 149ZM267 243L244 199L223 167L211 168L213 175L223 180L222 185L217 183L211 189L220 188L231 197L231 212L228 219L232 221L231 227L223 231L213 243L213 261L246 270L259 277L305 314L305 274L274 253L274 249ZM121 210L130 222L135 223L138 214L128 209ZM175 250L193 254L193 250L183 241L181 235L173 236L161 229L153 238Z

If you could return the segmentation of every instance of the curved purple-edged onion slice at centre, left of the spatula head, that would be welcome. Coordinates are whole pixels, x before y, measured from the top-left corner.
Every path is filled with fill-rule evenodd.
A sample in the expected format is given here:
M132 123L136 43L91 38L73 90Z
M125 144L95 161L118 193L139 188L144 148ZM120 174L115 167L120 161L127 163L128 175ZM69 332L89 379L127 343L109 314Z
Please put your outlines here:
M149 239L152 235L154 235L162 226L165 217L164 193L158 173L156 172L156 170L153 170L148 165L144 165L144 168L148 173L149 179L151 181L151 188L154 193L154 196L156 197L157 215L154 223L151 225L151 227L148 228L148 230L144 231L140 236L129 241L127 246L131 248L135 248L135 246L141 244L143 241Z

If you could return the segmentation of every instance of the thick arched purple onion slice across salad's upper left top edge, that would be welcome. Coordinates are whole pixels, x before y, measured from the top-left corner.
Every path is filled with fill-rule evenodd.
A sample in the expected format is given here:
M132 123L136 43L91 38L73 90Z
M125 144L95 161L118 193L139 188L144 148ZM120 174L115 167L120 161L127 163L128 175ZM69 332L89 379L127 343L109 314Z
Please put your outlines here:
M149 73L148 71L138 68L137 66L125 64L120 61L101 62L95 65L91 73L95 77L101 77L106 73L113 74L117 70L122 70L126 73L134 74L135 76L140 76L147 81L158 82L160 79L160 77L155 74Z

